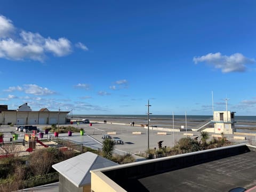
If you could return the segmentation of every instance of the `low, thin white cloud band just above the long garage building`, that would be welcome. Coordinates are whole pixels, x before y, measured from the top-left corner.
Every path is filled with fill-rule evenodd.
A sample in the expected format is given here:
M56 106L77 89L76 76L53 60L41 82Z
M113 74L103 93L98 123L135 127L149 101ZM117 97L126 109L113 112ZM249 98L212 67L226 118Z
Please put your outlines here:
M46 87L41 87L35 84L26 84L23 86L11 86L9 89L4 90L5 92L13 92L13 91L23 91L27 94L33 95L51 95L55 94L54 91L47 89Z

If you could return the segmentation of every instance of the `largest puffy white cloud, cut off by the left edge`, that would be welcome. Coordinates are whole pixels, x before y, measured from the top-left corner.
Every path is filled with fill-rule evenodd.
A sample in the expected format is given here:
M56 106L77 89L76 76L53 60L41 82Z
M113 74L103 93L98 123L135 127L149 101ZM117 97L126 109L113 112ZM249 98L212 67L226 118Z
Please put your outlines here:
M83 50L87 49L80 42L76 46ZM67 38L45 38L38 33L19 30L13 26L10 19L0 15L0 58L43 62L47 53L55 57L63 57L71 52L72 43Z

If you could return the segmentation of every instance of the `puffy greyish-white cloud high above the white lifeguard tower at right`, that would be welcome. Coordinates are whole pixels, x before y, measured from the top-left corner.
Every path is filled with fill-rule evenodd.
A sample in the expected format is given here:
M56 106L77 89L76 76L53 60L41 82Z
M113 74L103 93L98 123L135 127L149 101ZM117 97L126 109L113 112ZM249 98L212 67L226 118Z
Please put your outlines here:
M244 72L246 64L254 63L254 59L244 57L241 53L235 53L230 56L218 53L209 53L201 57L194 57L193 61L210 63L217 69L221 69L222 73Z

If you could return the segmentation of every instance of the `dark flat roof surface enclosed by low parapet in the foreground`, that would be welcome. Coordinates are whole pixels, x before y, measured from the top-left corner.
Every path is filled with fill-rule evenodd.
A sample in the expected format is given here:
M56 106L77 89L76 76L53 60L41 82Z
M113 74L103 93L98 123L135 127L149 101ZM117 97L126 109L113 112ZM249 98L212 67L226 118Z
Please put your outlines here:
M229 191L256 186L256 153L217 159L118 183L127 191Z

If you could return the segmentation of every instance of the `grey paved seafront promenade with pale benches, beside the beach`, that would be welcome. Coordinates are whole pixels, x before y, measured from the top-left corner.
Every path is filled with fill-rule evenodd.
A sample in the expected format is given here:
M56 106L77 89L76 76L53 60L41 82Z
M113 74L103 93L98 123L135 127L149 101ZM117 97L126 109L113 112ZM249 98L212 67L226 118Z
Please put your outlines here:
M92 125L92 126L90 126ZM37 125L37 127L41 130L47 125ZM50 125L48 125L50 127ZM69 125L65 125L69 126ZM79 135L79 133L73 133L71 137L68 137L67 133L60 133L59 138L69 139L71 141L81 142L84 146L91 147L93 149L101 149L102 148L102 137L103 135L109 134L113 139L121 139L124 144L115 145L115 149L119 151L119 154L123 153L132 153L137 154L140 151L144 152L148 149L148 129L142 127L141 125L135 124L134 126L130 126L130 124L125 123L107 123L103 122L92 122L92 124L73 124L72 126L77 126L78 128L84 129L83 136ZM174 143L179 141L180 138L186 137L186 131L178 132L177 129L170 129L170 131L159 131L154 130L155 127L149 127L149 148L158 148L158 141L163 141L162 146L173 147ZM14 131L19 135L18 139L22 140L24 133L15 131L15 127L10 126L1 126L1 132L5 132L4 141L10 141L8 137L11 137L11 131ZM114 133L114 134L113 134ZM137 134L134 134L137 133ZM138 134L140 133L140 134ZM161 134L163 133L163 134ZM166 133L166 134L165 134ZM200 133L196 131L187 131L189 137L196 138L199 137ZM211 136L214 133L209 133ZM53 137L53 134L49 134ZM44 134L44 139L49 138L50 136ZM256 137L253 135L244 135L246 139L255 144ZM248 140L234 140L233 134L225 134L225 137L229 141L235 141L237 143L247 142ZM200 139L200 138L198 138Z

